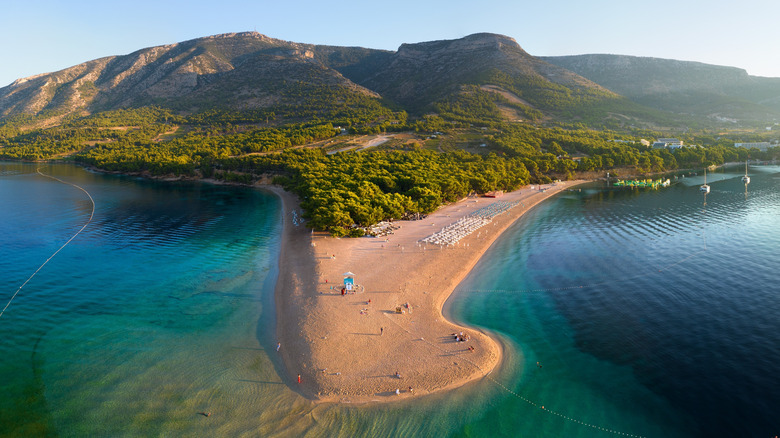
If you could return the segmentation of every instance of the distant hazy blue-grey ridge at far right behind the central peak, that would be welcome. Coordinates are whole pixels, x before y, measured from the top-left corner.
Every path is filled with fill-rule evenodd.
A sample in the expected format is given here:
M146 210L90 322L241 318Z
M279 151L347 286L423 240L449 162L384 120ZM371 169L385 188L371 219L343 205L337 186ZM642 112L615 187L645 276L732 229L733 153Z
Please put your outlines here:
M719 120L780 118L780 78L691 61L623 55L543 57L652 108Z

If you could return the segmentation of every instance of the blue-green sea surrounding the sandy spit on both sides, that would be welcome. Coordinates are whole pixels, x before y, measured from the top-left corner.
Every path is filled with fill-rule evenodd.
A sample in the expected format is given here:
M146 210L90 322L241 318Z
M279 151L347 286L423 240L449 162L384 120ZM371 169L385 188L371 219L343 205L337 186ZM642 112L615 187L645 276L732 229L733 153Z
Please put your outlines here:
M0 162L0 436L774 437L780 167L748 172L541 203L445 308L501 366L353 406L281 368L275 195Z

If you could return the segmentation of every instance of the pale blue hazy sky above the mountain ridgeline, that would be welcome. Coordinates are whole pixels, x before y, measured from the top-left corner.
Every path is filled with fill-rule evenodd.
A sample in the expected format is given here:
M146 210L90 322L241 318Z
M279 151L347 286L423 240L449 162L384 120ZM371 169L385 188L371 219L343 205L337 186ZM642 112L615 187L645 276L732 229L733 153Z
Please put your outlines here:
M535 56L653 56L780 77L776 0L2 0L0 87L103 56L250 30L388 50L493 32Z

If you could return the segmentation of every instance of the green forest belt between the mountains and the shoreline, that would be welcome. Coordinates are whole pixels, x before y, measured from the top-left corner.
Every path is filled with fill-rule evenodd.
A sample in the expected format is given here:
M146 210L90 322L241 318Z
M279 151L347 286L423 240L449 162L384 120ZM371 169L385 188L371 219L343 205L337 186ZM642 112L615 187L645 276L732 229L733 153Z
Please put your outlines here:
M554 99L559 92L534 98ZM581 123L540 126L532 122L541 113L477 87L464 87L436 103L435 113L419 117L326 87L292 87L288 93L287 103L272 110L212 109L182 116L144 107L71 116L59 126L40 128L30 128L34 116L7 118L0 123L0 158L72 160L105 171L239 184L270 176L299 196L310 227L360 236L381 220L430 213L472 193L607 171L642 175L780 155L778 148L733 146L762 140L759 134L689 132L681 138L697 146L671 151L640 142L666 136L658 132L594 130ZM294 103L303 93L314 98ZM506 122L502 108L527 122ZM407 133L413 140L363 151L322 147L382 132Z

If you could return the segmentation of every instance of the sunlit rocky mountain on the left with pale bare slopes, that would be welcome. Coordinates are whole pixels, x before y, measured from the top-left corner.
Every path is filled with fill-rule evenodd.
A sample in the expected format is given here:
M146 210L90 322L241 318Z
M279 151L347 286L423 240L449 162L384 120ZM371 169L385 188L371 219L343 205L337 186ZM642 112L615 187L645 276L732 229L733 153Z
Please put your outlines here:
M377 97L327 64L376 51L276 40L256 32L216 35L86 62L0 88L0 116L89 114L159 105L180 111L251 109L285 100L288 83ZM346 59L346 61L345 61Z

